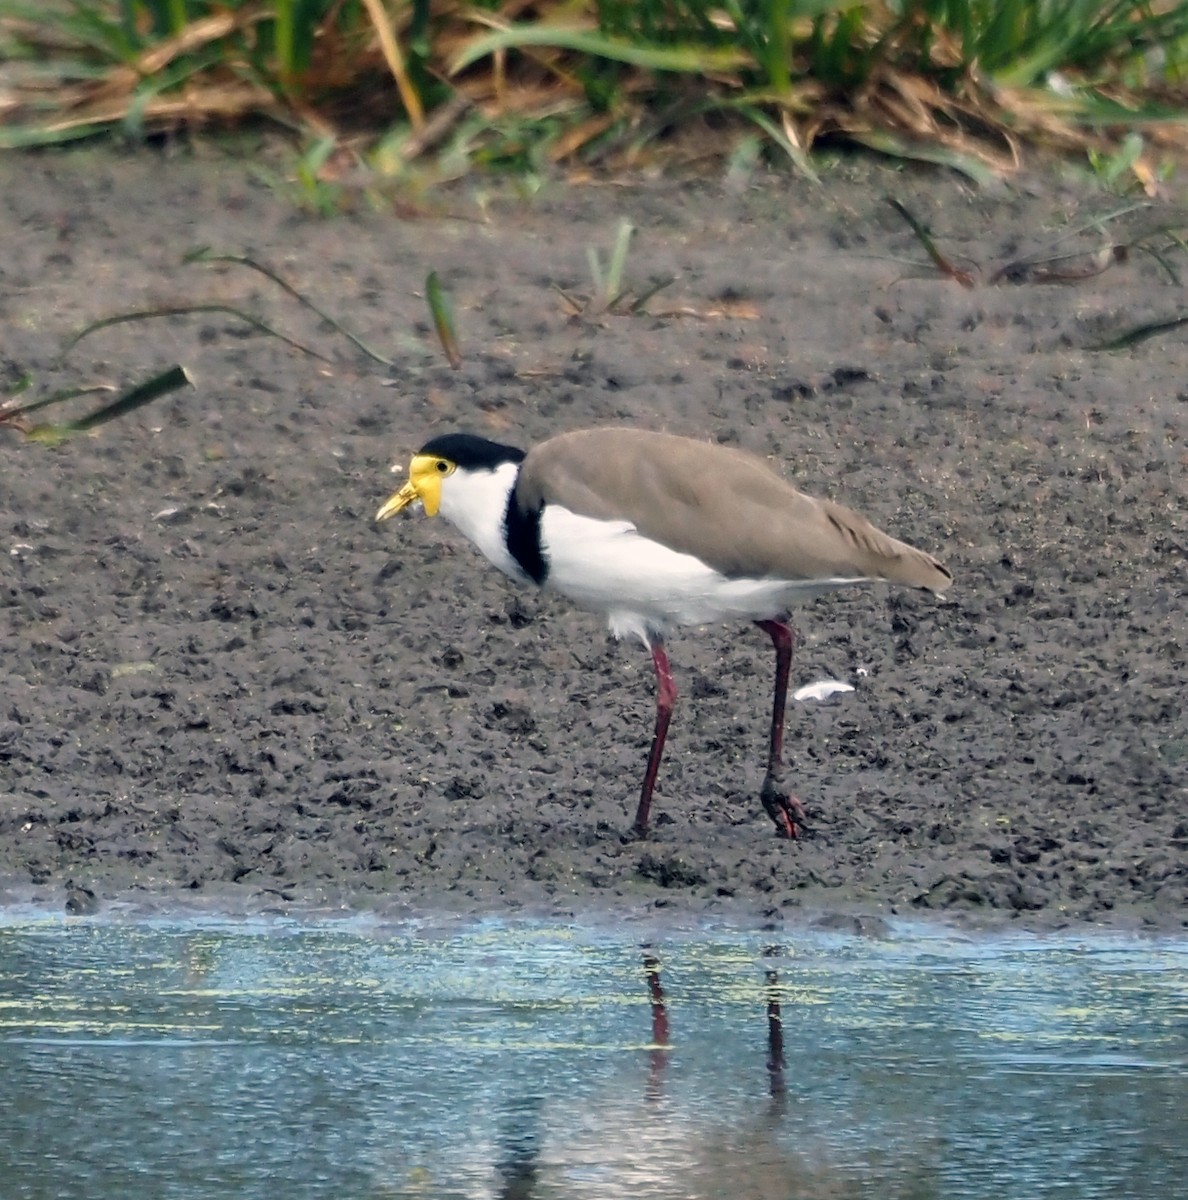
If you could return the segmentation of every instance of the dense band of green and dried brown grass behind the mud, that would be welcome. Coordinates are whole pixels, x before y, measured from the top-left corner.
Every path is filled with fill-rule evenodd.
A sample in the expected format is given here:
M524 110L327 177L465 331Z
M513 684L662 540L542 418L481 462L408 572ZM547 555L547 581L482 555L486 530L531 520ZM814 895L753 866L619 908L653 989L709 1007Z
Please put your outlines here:
M1182 0L0 0L0 148L265 120L325 148L311 194L343 155L440 178L756 136L809 174L830 138L1147 182L1188 142Z

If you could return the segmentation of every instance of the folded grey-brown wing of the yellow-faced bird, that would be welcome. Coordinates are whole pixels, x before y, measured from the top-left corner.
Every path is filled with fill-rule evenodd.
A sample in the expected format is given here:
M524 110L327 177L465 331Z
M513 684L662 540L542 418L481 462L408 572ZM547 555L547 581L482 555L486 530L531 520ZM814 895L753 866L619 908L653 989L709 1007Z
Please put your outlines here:
M740 450L641 430L580 430L524 460L526 510L630 521L647 538L737 578L888 580L942 592L952 575L865 517L798 492Z

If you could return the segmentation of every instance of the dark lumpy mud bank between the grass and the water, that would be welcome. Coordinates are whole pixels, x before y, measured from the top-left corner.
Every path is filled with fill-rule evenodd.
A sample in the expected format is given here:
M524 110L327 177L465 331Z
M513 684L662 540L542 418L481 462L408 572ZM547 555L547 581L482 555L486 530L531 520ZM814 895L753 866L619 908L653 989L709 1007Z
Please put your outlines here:
M887 192L984 264L979 286L911 265ZM859 162L820 190L468 185L433 204L305 215L209 148L0 158L0 395L173 362L196 382L54 449L0 431L0 899L1188 925L1188 344L1086 348L1183 293L1144 254L985 282L1100 245L1066 235L1117 197L1056 170L978 190ZM648 314L572 318L557 289L589 293L587 248L624 218L628 280L672 284ZM184 265L198 245L266 263L395 365L258 274ZM90 320L196 301L328 361L217 312L62 355ZM631 841L642 649L517 594L442 521L372 521L433 433L616 422L770 456L954 572L941 602L871 588L798 614L793 686L856 688L790 706L799 841L757 799L758 630L673 638L659 818Z

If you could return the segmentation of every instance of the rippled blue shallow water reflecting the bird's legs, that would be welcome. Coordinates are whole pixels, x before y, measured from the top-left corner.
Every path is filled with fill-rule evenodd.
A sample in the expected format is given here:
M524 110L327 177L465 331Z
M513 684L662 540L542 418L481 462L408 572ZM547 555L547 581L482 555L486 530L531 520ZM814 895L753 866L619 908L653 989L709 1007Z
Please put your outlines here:
M10 913L0 1198L1188 1194L1188 942L770 936Z

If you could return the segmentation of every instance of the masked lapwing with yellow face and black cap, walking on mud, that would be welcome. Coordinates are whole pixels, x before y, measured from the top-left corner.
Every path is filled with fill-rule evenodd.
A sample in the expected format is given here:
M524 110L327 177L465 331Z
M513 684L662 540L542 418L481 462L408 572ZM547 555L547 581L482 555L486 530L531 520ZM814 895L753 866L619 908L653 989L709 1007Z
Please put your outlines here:
M678 628L751 620L772 640L775 684L760 799L779 836L806 820L784 782L784 714L797 635L793 602L886 581L942 595L931 554L852 509L798 491L763 458L634 427L575 430L530 450L467 432L413 455L376 514L440 514L504 575L606 617L652 654L656 713L631 835L646 838L677 701L666 641Z

